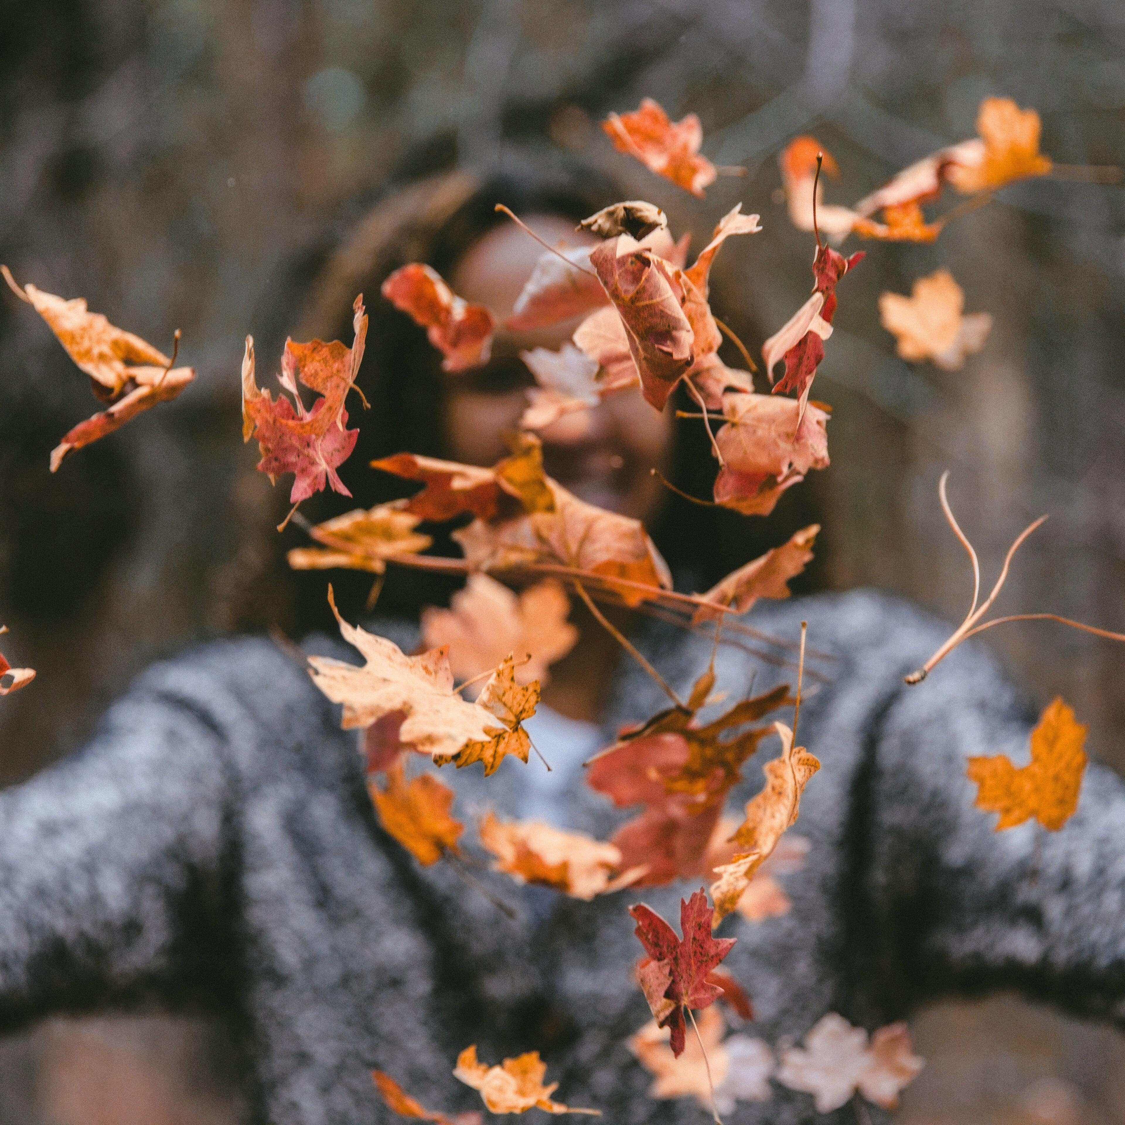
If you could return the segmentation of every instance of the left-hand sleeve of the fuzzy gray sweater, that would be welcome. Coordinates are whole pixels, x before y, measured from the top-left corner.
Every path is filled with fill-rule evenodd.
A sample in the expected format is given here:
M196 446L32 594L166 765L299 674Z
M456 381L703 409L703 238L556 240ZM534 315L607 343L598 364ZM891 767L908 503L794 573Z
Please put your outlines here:
M260 738L238 680L271 648L240 644L158 665L82 750L0 792L0 1026L232 994L236 759Z

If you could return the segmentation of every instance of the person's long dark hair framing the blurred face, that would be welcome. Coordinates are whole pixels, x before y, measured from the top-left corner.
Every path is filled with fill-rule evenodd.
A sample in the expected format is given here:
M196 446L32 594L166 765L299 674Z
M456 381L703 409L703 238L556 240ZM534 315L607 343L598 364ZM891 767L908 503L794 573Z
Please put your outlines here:
M615 202L621 189L604 173L557 151L524 151L505 168L485 179L446 172L406 186L395 184L367 215L353 225L348 240L321 269L296 339L351 339L351 300L362 291L368 306L367 350L359 384L371 403L361 414L352 408L360 426L356 452L344 466L343 477L356 486L364 505L408 495L416 486L368 469L378 457L408 451L443 456L440 424L443 379L440 357L425 332L379 296L382 279L407 261L424 261L448 276L469 245L501 223L503 202L516 214L555 214L575 222ZM745 322L745 317L742 321ZM741 360L731 358L741 366ZM695 410L683 395L674 400ZM716 462L701 423L684 422L676 429L673 483L688 495L706 498ZM809 484L791 489L768 521L722 508L693 504L669 494L650 529L660 551L676 575L677 585L704 590L723 574L783 542L798 528L814 522L816 497ZM306 502L309 519L325 519L343 511L339 496L321 494ZM296 543L304 537L289 532ZM439 534L438 548L444 539ZM451 549L450 554L458 554ZM417 572L392 568L380 595L382 612L415 615L423 604L443 603L459 584ZM327 623L324 576L297 577L297 598L305 627ZM338 597L349 605L362 601L370 585L367 575L334 575ZM807 583L808 585L808 583ZM307 596L305 596L307 595Z

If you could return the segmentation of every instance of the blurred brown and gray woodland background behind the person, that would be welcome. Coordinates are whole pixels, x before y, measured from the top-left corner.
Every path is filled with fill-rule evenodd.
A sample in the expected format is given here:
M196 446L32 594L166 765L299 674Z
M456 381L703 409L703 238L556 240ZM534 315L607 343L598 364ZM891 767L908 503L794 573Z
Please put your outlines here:
M720 258L716 312L756 351L810 287L811 237L778 195L784 144L813 133L843 173L828 199L848 204L973 135L990 94L1040 111L1056 162L1125 165L1125 6L2 0L0 261L162 350L181 328L198 381L51 476L51 448L96 404L39 318L0 300L0 622L4 655L38 669L0 705L0 782L79 745L154 658L306 621L282 561L298 539L273 530L286 490L241 440L243 338L268 376L314 268L388 178L488 172L534 138L658 202L696 246L741 199L764 232ZM747 176L701 202L615 153L597 122L644 96L698 112L703 152ZM1002 612L1125 630L1125 189L1018 184L934 245L864 249L817 382L832 465L786 494L771 541L811 513L825 531L803 588L876 585L960 620L971 573L937 503L948 468L986 582L1051 514ZM876 312L880 291L939 266L966 312L994 318L955 372L897 359ZM343 474L359 500L364 471ZM1125 648L1050 624L987 642L1125 768ZM1125 1120L1125 1038L1108 1028L1000 997L943 1004L914 1030L929 1062L899 1115L911 1125ZM154 1014L20 1032L0 1045L0 1123L235 1122L215 1036Z

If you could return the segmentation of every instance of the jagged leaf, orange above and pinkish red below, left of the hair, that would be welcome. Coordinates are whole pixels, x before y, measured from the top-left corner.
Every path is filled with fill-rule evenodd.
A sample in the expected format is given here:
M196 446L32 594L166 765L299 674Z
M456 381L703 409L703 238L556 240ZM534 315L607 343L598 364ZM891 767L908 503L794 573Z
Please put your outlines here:
M353 312L356 342L351 348L339 341L331 344L320 340L308 344L286 341L278 381L291 395L291 402L280 394L274 402L269 390L258 389L254 341L246 336L242 360L242 440L258 439L262 454L258 468L271 482L285 472L295 475L289 494L294 504L320 492L325 484L344 496L351 495L336 469L351 454L359 436L358 430L346 429L344 399L354 386L363 358L367 316L362 295L356 298ZM305 410L298 379L322 396L310 411Z

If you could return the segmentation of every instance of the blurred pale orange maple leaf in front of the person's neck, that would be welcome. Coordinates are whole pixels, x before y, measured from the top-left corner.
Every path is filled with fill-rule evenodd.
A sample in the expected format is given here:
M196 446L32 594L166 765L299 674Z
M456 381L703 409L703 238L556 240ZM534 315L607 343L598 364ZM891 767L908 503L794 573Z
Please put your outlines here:
M569 598L552 578L514 594L485 574L470 574L450 609L422 611L428 648L444 645L458 680L474 680L496 667L508 652L530 659L515 669L515 681L548 680L548 665L574 648L578 630L567 621Z

